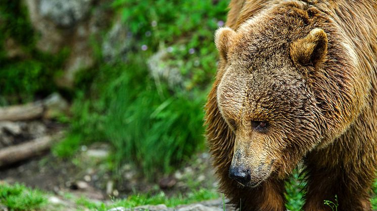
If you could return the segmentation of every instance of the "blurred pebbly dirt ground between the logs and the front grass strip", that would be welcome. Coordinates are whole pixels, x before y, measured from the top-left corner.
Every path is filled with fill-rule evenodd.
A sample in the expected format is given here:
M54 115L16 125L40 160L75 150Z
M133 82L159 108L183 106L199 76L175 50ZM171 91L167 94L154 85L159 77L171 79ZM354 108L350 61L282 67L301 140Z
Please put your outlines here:
M156 181L147 181L137 169L126 164L117 172L111 169L107 144L81 146L73 158L63 160L52 153L0 169L0 181L27 186L64 196L67 193L92 200L125 198L132 193L184 194L189 189L216 187L207 153L200 153L176 172Z

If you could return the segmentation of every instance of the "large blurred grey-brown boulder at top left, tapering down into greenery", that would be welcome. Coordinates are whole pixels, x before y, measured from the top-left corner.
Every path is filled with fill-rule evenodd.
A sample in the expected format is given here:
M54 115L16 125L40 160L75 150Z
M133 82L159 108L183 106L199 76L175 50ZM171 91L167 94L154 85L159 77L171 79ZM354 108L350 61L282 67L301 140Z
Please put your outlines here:
M91 67L95 59L90 39L100 36L108 27L112 13L105 0L24 0L33 29L39 34L36 47L48 53L58 53L68 47L70 54L64 63L64 74L56 79L60 87L73 88L75 75ZM97 7L98 6L98 7Z

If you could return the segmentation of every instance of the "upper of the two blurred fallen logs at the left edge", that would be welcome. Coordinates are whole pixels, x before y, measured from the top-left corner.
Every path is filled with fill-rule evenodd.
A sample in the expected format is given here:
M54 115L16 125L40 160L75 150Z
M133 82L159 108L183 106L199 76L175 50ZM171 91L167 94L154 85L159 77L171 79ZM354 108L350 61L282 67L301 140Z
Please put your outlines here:
M43 115L42 102L0 108L0 121L20 121L39 118Z

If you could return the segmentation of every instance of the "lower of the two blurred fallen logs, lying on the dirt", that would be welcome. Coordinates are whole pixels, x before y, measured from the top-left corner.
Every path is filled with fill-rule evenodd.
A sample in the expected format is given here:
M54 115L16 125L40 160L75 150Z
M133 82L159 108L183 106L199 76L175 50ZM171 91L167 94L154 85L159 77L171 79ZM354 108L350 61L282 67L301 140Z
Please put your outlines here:
M26 160L44 151L50 150L52 144L62 137L63 133L59 132L52 136L46 135L30 140L29 142L0 149L0 167Z

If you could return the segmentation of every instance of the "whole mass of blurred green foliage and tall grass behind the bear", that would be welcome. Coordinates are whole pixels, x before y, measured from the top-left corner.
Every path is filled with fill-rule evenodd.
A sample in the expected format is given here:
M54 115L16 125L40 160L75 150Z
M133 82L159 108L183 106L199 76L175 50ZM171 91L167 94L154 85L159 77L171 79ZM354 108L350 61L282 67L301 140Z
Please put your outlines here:
M112 6L137 42L125 62L99 59L96 69L78 76L72 134L55 153L66 156L72 152L67 145L107 140L116 166L132 160L149 177L169 173L204 147L203 106L217 59L212 37L227 1L193 7L190 1L116 0ZM148 58L167 47L169 65L187 79L183 87L169 88L149 75Z

